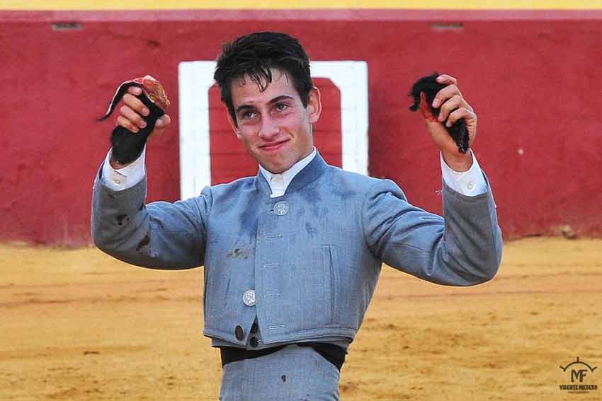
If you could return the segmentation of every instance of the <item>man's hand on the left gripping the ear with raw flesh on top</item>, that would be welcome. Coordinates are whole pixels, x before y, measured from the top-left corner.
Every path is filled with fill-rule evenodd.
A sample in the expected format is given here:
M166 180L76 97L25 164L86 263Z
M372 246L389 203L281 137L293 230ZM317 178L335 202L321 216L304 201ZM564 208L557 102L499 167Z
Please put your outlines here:
M144 103L137 98L137 95L142 93L142 89L137 86L132 86L127 90L127 93L123 95L123 106L119 109L120 116L117 117L115 125L120 125L131 132L138 132L140 128L147 126L142 116L149 115L149 109L144 106ZM157 123L154 126L153 131L149 135L148 140L150 141L154 136L161 136L166 127L171 124L171 118L169 115L162 115L157 119Z

